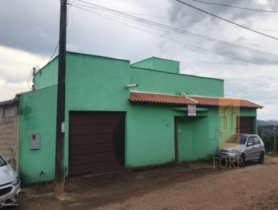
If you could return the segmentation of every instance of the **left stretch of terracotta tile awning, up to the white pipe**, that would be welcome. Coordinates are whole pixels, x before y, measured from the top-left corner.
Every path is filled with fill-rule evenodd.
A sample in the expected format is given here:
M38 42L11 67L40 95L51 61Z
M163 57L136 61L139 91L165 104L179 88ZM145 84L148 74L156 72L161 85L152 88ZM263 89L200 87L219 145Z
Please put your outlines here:
M195 102L192 99L189 99L186 96L163 95L147 92L131 92L129 99L131 100L131 102L142 102L152 104L197 104L197 102Z

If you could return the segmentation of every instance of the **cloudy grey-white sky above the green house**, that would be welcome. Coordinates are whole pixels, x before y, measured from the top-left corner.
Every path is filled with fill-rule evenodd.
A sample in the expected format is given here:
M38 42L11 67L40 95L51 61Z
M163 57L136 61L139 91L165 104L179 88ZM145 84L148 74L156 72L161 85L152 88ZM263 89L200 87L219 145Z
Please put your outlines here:
M278 40L229 24L175 0L74 0L67 17L67 51L123 58L131 63L151 56L179 60L182 74L224 79L225 97L261 104L265 108L258 110L260 120L278 120L278 57L130 22L127 26L77 8L82 1L272 54L278 54ZM276 0L206 1L278 10ZM193 0L184 2L278 38L278 13L240 10ZM32 68L47 64L58 43L59 13L58 0L1 1L0 101L29 90L26 80Z

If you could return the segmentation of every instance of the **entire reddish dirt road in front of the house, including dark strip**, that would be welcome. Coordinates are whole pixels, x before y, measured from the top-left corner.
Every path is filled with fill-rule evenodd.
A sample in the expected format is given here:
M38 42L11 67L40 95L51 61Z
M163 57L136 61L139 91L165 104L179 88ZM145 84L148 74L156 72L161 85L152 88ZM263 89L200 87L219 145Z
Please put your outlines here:
M278 209L277 157L244 168L211 165L69 179L61 200L51 185L25 188L15 209Z

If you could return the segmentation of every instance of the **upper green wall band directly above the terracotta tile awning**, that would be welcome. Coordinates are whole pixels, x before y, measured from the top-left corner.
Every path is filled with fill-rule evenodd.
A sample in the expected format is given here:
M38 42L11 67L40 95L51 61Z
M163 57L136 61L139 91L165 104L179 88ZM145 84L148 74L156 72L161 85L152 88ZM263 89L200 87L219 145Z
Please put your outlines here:
M131 83L138 83L136 90L147 92L224 97L224 81L220 79L131 67Z

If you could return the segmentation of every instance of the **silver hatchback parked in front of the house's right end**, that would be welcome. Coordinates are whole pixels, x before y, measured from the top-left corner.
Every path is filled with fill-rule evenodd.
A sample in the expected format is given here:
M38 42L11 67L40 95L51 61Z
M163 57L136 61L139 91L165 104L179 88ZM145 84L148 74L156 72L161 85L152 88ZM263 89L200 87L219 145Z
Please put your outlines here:
M255 159L263 164L264 155L265 145L263 140L255 134L232 135L218 148L220 158L239 160L241 165L244 165L245 161Z

